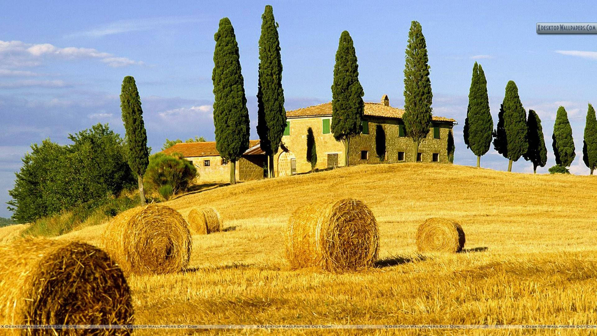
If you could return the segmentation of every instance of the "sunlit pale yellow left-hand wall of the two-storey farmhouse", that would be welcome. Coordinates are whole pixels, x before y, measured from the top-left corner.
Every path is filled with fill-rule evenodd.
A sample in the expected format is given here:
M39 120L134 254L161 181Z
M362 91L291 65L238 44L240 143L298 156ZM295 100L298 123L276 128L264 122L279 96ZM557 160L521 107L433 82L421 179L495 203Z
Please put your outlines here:
M338 166L344 166L344 144L336 141L334 135L330 132L323 133L323 119L331 117L312 117L312 118L288 118L290 121L290 135L282 136L282 143L288 149L287 154L283 154L282 149L274 155L274 170L276 176L291 175L290 160L296 159L296 172L305 173L311 171L311 164L307 162L307 129L313 129L315 146L317 148L316 169L327 169L328 154L338 155Z

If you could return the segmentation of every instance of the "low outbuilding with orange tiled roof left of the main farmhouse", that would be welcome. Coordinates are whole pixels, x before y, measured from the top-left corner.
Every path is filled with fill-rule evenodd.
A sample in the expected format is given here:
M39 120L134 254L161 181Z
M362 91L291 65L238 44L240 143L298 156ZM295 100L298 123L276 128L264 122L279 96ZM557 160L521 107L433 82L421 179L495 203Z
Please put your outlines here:
M267 157L259 147L259 140L250 140L249 146L236 162L238 181L262 179L266 173L264 167L267 167ZM195 182L230 181L229 161L220 157L215 141L176 143L162 151L164 154L174 152L182 154L186 160L193 163L199 175Z

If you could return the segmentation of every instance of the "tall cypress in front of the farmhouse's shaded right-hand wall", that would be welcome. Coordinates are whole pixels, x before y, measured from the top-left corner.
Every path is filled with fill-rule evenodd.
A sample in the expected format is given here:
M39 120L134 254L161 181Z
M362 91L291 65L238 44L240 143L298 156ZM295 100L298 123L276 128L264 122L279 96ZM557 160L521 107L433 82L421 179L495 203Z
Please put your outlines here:
M413 21L408 31L404 66L404 114L402 120L413 139L413 161L417 161L418 144L426 138L431 126L433 93L429 80L427 45L421 24Z

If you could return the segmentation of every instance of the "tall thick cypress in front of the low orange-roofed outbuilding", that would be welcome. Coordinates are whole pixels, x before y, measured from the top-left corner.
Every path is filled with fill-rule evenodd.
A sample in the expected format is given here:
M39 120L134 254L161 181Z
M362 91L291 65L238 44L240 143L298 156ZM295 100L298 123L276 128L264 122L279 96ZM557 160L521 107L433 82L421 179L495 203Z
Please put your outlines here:
M211 80L214 82L216 149L221 157L230 160L230 184L235 184L236 161L249 148L250 125L238 44L227 17L220 20L214 39L216 49Z

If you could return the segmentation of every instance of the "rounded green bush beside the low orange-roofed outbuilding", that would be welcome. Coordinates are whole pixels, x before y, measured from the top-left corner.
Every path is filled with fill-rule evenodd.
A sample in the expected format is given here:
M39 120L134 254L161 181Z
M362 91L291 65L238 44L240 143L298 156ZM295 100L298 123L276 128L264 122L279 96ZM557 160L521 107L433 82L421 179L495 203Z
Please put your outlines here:
M197 169L180 153L156 153L149 157L144 181L149 188L168 199L186 191L197 176Z

